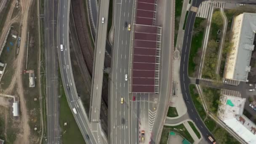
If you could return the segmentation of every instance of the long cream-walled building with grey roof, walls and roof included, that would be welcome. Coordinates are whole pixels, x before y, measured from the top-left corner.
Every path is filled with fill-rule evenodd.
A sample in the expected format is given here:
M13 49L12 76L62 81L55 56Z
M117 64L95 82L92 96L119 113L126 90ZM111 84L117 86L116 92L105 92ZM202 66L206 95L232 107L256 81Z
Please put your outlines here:
M230 35L232 48L227 55L225 79L248 81L255 32L256 13L242 13L233 19Z

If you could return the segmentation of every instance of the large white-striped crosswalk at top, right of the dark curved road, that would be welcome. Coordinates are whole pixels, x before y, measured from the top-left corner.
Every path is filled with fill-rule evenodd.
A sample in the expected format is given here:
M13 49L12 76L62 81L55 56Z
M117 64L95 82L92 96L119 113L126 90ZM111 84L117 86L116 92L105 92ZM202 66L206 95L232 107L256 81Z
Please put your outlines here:
M224 8L225 2L203 1L197 10L197 17L207 19L209 13L213 12L213 8Z

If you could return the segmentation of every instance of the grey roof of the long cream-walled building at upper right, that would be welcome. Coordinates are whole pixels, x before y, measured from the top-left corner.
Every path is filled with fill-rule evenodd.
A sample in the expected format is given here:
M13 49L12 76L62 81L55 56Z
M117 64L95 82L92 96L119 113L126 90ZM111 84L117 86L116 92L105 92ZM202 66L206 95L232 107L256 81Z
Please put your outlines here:
M254 45L254 35L256 32L256 13L242 13L243 21L241 21L240 40L238 42L238 54L235 64L234 76L235 80L247 81L248 72L251 66L251 53Z

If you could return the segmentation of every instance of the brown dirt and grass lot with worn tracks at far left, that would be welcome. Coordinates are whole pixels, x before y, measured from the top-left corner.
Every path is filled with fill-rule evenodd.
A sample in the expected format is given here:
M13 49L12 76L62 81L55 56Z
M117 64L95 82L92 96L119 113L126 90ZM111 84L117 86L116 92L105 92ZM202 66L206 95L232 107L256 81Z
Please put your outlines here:
M0 117L0 138L5 139L7 144L37 144L40 142L41 133L40 93L37 87L37 80L35 81L36 87L29 88L28 74L23 73L26 68L27 46L29 46L28 69L35 70L35 77L37 77L38 74L38 55L40 49L37 41L37 3L32 0L21 0L20 13L16 15L13 13L13 5L15 2L16 0L13 0L11 9L7 15L3 32L0 36L0 44L2 44L5 33L13 23L18 25L18 27L15 28L22 38L18 55L16 54L16 41L14 41L11 44L13 46L12 48L11 46L7 48L8 45L5 46L3 51L5 55L3 57L1 56L1 59L10 66L6 68L6 72L3 75L5 79L3 78L1 83L1 92L19 97L20 116L12 116L10 104L7 108L1 109L0 107L0 114L4 116ZM11 19L11 16L13 16L13 19ZM28 31L30 31L29 45L27 45ZM34 101L34 98L37 98L37 101ZM4 107L6 107L6 105L4 105ZM5 127L1 127L3 123ZM11 126L7 127L7 125ZM35 127L37 127L37 131L33 131Z

